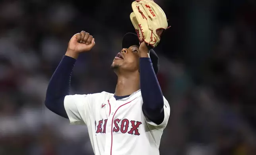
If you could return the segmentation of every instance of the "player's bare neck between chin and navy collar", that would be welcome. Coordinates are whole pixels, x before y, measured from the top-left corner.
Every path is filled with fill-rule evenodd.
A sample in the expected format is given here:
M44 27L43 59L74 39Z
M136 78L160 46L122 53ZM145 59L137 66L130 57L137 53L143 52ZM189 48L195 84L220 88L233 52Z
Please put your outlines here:
M116 96L126 96L131 95L132 93L138 91L140 89L140 78L139 76L130 77L126 76L118 76L116 83Z

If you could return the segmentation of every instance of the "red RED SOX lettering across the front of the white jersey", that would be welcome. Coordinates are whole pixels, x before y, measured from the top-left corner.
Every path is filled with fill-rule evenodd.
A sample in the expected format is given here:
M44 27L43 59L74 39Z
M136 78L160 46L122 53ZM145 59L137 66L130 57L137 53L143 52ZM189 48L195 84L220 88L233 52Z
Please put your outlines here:
M95 127L97 125L97 130L96 133L106 133L106 124L107 124L108 119L104 120L103 124L103 119L98 121L98 125L96 124L95 121ZM120 123L121 122L121 123ZM128 119L115 119L113 121L113 128L112 132L121 132L123 134L128 133L128 134L134 134L139 136L139 127L142 124L140 121L129 121ZM130 129L130 130L129 130Z

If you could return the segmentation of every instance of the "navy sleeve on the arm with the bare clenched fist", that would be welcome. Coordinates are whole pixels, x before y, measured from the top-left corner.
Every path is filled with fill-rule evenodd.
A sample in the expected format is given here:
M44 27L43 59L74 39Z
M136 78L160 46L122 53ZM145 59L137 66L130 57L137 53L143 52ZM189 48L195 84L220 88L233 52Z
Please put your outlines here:
M48 84L45 106L52 112L68 118L64 108L64 98L69 95L71 74L76 59L64 56Z

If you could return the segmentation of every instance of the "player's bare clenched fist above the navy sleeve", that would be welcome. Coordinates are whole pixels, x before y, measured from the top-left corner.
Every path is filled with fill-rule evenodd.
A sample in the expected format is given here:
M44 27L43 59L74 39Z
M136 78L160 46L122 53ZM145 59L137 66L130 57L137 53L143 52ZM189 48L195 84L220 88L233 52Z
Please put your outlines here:
M95 41L93 36L88 32L81 31L70 39L66 55L77 59L79 53L90 51L94 45Z

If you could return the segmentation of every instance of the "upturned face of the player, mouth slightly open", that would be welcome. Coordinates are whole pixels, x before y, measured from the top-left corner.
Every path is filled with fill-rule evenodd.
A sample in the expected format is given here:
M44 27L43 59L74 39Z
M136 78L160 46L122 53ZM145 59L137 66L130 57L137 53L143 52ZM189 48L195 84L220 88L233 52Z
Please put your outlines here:
M139 70L139 48L136 45L124 48L116 55L111 68L134 72Z

